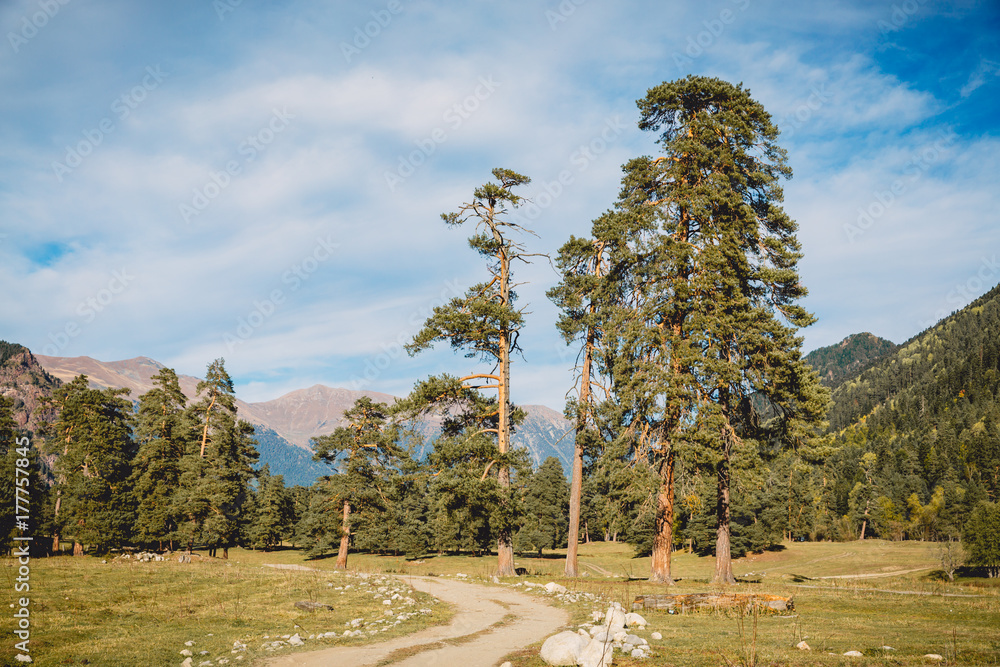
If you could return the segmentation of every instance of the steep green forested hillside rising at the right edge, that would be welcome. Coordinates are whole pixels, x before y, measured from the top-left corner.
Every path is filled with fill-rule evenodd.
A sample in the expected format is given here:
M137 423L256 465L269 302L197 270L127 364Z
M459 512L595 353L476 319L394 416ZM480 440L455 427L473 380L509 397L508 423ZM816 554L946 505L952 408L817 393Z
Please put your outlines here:
M906 507L913 491L929 498L938 485L967 505L996 498L1000 286L841 383L832 399L830 431L842 457L875 453L873 474L897 504ZM859 479L846 480L842 495Z

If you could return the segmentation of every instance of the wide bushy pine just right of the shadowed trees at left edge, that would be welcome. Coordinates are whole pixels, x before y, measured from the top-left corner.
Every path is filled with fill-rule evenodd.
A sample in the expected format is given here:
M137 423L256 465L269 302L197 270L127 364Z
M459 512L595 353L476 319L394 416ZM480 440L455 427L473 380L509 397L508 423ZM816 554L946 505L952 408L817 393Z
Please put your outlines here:
M122 398L128 393L91 389L85 375L53 393L59 416L48 445L57 456L56 527L73 536L74 555L82 555L85 544L103 552L131 538L135 507L128 478L136 446L132 403Z

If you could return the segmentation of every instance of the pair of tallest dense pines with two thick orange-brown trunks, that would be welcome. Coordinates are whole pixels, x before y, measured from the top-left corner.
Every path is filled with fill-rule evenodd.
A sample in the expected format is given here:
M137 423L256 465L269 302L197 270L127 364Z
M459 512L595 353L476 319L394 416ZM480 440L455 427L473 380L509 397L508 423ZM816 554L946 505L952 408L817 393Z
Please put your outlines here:
M638 102L663 155L629 162L607 231L615 391L662 486L652 578L670 580L674 455L717 480L714 581L731 582L732 461L760 440L801 440L825 397L801 360L796 225L779 204L791 174L777 128L742 86L689 76ZM598 237L603 238L603 237ZM787 323L787 324L786 324Z

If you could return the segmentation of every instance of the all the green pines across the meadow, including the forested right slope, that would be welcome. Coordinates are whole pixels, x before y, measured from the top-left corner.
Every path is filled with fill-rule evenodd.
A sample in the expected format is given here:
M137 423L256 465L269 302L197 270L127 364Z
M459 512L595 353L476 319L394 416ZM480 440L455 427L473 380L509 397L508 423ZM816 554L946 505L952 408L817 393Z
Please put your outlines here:
M770 115L742 85L697 76L650 89L638 107L660 154L628 161L617 199L554 258L548 296L578 352L571 484L554 459L533 471L510 444L524 418L511 401L525 325L513 274L537 253L519 214L530 179L498 168L442 215L473 227L483 280L407 346L447 343L470 365L393 405L360 399L313 440L331 474L294 489L254 471L252 428L236 418L221 360L190 404L165 369L134 414L121 390L77 378L56 392L47 434L50 534L223 553L290 540L336 552L341 567L352 548L495 551L501 576L516 551L557 546L576 576L581 539L624 540L664 583L681 546L714 554L714 581L733 582L734 556L782 539L962 537L996 568L983 537L1000 525L996 300L843 382L831 403L801 354L798 330L814 317ZM977 341L976 358L962 356ZM427 419L440 433L418 460Z

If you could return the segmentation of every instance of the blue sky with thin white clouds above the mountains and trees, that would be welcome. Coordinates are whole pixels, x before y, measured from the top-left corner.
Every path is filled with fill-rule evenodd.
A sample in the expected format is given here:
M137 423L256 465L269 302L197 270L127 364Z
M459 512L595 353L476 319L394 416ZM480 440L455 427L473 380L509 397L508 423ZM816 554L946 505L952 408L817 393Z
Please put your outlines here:
M247 401L488 371L402 349L486 275L440 214L513 169L555 256L657 154L636 100L689 74L781 130L804 351L1000 282L996 2L14 0L0 35L0 338L37 354L222 357ZM513 400L561 410L558 275L515 279Z

